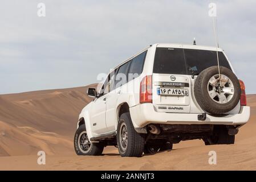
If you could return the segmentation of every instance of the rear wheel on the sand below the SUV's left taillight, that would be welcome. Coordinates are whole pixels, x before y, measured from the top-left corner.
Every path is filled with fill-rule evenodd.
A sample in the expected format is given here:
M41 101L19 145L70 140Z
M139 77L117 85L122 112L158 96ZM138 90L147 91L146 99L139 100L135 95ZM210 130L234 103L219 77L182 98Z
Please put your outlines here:
M127 144L122 142L121 132L127 129ZM143 154L145 145L145 135L139 134L134 129L129 113L124 113L119 118L117 125L117 146L122 157L140 157Z

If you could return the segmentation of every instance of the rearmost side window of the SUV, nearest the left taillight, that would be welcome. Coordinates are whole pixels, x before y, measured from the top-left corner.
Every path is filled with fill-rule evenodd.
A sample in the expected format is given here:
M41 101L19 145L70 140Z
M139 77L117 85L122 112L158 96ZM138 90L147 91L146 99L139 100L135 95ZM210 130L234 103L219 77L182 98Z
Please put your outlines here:
M143 72L143 65L145 61L147 51L141 53L140 55L132 59L131 67L129 69L129 80L138 77Z

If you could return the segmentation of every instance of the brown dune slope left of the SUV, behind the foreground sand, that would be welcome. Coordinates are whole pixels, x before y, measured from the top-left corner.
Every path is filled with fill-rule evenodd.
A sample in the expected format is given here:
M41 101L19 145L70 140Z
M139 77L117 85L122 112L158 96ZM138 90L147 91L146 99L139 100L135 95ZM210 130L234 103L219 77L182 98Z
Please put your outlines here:
M0 156L73 153L87 87L0 95Z

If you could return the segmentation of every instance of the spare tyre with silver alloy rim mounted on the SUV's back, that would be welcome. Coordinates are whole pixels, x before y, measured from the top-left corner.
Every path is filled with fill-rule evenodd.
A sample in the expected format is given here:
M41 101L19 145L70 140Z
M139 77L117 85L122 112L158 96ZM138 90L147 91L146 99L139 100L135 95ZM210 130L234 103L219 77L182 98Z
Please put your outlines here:
M237 106L241 88L238 78L226 68L218 66L206 68L196 78L194 96L202 110L210 114L225 114Z

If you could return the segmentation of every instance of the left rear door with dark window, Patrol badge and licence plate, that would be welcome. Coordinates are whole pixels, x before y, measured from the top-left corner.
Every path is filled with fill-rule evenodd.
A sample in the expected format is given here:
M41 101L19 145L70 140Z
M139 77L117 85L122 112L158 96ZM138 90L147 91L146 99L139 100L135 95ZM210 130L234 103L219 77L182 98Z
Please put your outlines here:
M192 90L182 47L156 48L152 79L153 105L157 111L190 112Z

